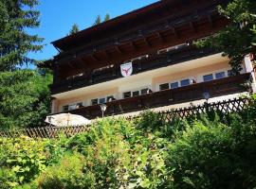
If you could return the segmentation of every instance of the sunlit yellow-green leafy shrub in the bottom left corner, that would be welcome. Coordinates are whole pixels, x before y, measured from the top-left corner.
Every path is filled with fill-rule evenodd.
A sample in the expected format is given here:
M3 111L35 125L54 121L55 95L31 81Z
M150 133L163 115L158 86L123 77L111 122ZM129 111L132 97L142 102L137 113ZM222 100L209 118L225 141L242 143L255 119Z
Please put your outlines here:
M46 168L46 143L25 136L0 138L0 187L14 187L36 178Z

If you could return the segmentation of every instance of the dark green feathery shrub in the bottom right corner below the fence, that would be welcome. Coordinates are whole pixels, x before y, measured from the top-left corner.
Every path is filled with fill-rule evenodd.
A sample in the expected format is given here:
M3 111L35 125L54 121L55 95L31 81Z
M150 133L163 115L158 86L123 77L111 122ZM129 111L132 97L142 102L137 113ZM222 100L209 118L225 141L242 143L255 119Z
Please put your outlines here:
M256 132L239 123L231 128L195 122L176 139L167 159L174 188L254 188Z

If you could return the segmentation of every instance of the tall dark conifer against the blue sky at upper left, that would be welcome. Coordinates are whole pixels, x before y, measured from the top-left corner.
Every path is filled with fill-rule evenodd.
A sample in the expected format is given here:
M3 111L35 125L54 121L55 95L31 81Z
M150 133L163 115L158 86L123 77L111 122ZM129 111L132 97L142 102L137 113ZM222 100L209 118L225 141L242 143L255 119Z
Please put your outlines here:
M15 70L17 65L36 63L27 52L42 49L43 38L30 35L27 28L38 27L38 0L0 1L0 71Z

